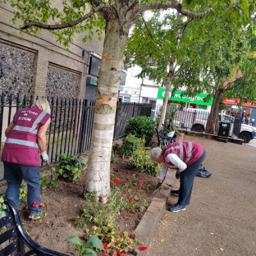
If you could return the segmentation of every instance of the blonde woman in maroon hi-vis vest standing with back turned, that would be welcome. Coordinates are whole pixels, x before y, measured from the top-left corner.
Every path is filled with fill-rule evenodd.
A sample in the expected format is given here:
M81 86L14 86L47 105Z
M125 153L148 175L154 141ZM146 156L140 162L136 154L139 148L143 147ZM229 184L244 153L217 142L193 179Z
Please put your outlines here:
M38 99L31 108L18 109L5 130L1 161L8 187L5 198L19 207L19 189L22 179L28 185L29 218L40 218L40 156L49 163L46 152L46 132L51 122L51 108L46 99Z

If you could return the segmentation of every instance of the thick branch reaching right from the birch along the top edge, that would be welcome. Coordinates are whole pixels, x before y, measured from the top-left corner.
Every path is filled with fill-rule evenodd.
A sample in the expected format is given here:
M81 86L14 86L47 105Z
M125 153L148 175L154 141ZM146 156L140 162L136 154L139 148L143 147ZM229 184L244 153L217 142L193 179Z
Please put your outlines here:
M182 4L180 4L177 0L171 0L171 1L157 1L153 3L141 3L138 4L138 11L139 12L144 12L147 10L156 10L156 9L168 9L168 8L173 8L177 10L180 14L184 16L188 16L191 18L199 18L203 17L204 15L212 12L211 9L209 10L204 10L202 12L191 12L189 10L186 10L185 8L182 7Z

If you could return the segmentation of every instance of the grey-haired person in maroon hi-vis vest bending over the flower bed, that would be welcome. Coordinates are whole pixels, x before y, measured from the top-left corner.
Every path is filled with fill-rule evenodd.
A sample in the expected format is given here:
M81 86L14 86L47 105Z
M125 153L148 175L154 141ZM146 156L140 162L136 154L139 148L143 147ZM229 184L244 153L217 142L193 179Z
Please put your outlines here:
M157 189L161 188L168 167L178 168L176 178L180 179L180 188L172 191L172 194L178 195L179 200L169 210L185 211L190 202L196 171L205 159L204 147L193 141L177 141L164 148L153 148L150 157L153 161L162 163Z

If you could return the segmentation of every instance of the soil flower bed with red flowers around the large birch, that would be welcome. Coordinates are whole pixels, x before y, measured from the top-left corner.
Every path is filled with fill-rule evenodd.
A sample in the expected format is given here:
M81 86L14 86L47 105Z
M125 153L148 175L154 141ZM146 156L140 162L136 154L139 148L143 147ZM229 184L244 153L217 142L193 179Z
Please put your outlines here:
M69 255L75 253L76 248L74 244L66 241L68 237L76 235L87 239L93 228L94 233L98 232L99 237L103 236L104 230L96 230L96 225L92 223L86 223L86 226L82 225L83 227L77 228L77 224L81 220L77 216L81 216L84 206L84 179L85 172L75 183L62 180L58 181L56 188L45 189L42 192L42 203L45 205L44 210L47 215L42 221L29 221L26 218L28 216L26 205L21 205L22 222L29 236L47 248ZM111 163L111 180L112 191L120 189L120 196L126 205L125 209L120 211L113 225L118 227L115 237L105 236L104 243L108 248L106 247L106 250L101 253L125 255L122 250L118 250L119 242L122 239L124 246L134 243L132 232L153 198L152 192L156 187L157 178L130 170L127 167L127 159L117 157L116 162ZM111 241L111 239L114 240ZM141 250L145 250L145 248L142 246Z

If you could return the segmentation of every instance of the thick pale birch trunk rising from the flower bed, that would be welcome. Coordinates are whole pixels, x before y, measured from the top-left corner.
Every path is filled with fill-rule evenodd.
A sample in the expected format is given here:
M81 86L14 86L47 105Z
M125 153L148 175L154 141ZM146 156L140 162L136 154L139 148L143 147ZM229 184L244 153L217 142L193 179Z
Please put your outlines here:
M96 191L102 202L106 202L110 195L110 159L116 99L129 32L129 24L121 26L120 20L115 20L115 17L111 18L112 20L107 22L99 70L85 187L87 192Z

